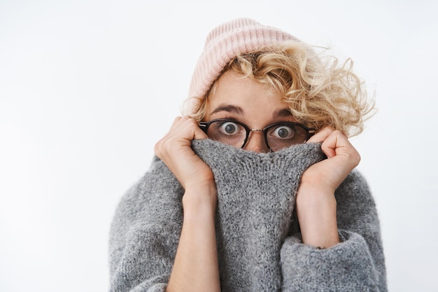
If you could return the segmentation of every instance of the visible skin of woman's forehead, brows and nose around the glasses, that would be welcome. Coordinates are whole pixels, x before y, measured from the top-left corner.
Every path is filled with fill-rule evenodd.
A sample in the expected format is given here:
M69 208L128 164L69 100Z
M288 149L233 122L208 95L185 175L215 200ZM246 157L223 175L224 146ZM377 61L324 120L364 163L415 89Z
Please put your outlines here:
M264 129L278 122L295 122L288 104L281 102L278 93L234 71L226 71L220 76L207 99L204 121L218 118L237 120L250 129ZM260 131L250 132L244 148L259 153L269 151Z

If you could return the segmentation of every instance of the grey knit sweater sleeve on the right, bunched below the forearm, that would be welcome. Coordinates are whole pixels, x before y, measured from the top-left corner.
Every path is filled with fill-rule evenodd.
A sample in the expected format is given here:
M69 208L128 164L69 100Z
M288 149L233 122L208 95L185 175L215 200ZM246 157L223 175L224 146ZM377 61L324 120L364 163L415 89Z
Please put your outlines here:
M365 179L352 172L335 196L341 243L316 249L299 233L286 238L283 291L387 291L379 218Z

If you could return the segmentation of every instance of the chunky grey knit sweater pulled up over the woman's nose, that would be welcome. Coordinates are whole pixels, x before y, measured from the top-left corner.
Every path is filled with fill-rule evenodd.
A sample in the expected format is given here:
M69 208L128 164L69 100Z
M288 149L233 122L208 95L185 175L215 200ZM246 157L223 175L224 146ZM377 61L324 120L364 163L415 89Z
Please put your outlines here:
M302 244L294 216L299 179L324 159L320 144L252 153L193 141L218 190L222 292L387 291L379 219L362 176L336 192L341 243ZM111 291L165 291L181 232L183 188L155 158L118 205L111 225Z

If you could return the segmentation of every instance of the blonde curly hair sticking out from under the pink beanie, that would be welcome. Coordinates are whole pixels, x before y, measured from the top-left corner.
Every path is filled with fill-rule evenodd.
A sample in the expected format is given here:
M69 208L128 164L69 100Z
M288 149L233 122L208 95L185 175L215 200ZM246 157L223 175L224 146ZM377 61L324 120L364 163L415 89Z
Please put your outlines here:
M353 137L362 132L374 110L374 100L367 96L365 83L352 69L351 59L339 64L337 57L316 54L304 43L286 42L238 55L222 74L233 70L280 93L298 123L316 130L330 126ZM216 82L204 97L189 98L183 114L201 121L215 86Z

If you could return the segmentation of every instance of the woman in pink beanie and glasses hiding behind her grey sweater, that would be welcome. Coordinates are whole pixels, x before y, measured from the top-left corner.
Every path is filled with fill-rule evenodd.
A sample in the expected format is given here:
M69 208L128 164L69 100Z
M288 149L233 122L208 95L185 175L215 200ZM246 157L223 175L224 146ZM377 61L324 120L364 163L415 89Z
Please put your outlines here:
M111 228L111 291L386 291L347 137L372 106L347 62L249 19L209 34L186 113Z

